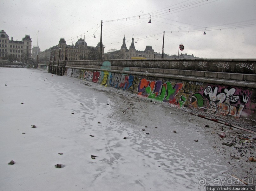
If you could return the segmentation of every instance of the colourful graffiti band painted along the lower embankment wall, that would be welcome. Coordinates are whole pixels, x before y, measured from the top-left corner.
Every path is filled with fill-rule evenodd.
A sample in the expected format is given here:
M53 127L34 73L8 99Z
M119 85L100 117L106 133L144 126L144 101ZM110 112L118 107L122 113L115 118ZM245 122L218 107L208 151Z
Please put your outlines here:
M110 66L111 63L105 61L102 64L102 71L68 68L66 74L98 83L102 87L115 87L159 102L167 102L179 108L196 108L209 114L236 119L240 117L255 119L254 89L133 75L130 72L116 73L110 72Z

